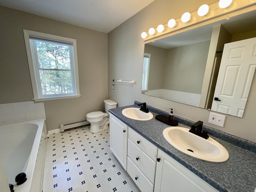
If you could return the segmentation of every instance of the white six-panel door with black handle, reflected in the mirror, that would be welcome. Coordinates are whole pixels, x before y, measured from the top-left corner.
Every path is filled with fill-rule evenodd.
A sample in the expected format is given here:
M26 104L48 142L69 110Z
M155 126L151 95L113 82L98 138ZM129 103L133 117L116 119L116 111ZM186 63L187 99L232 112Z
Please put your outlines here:
M211 110L242 117L256 68L256 38L224 45Z

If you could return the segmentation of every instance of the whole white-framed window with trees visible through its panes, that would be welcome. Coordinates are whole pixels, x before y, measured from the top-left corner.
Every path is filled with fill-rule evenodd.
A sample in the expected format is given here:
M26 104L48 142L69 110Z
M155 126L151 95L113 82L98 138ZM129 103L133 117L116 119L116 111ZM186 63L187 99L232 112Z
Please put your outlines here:
M79 97L76 40L23 31L34 100Z

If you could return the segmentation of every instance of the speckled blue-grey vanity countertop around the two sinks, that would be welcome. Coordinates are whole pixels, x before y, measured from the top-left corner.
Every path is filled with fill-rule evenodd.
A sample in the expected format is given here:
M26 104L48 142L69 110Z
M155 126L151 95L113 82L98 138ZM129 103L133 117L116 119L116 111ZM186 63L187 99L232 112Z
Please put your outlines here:
M138 103L135 102L135 104ZM137 121L122 115L122 110L129 107L139 106L131 105L109 111L220 192L254 192L256 188L255 143L204 126L203 129L213 133L210 137L222 144L229 152L229 159L224 163L204 162L179 152L164 139L162 132L170 126L156 120L155 116L157 114L168 116L167 112L147 106L154 118L149 121ZM178 116L176 120L179 122L178 126L186 128L194 123Z

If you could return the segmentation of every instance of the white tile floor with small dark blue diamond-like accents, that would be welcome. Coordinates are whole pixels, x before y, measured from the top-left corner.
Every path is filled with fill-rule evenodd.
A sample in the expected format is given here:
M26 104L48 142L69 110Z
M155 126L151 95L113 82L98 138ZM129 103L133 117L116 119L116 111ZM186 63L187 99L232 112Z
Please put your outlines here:
M43 192L140 192L109 147L109 129L89 126L50 135Z

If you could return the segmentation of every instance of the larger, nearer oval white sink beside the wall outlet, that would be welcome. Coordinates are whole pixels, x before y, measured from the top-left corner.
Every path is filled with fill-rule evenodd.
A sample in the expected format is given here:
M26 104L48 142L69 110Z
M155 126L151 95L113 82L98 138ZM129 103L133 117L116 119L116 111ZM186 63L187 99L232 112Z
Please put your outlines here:
M228 151L212 138L204 139L188 132L188 128L168 127L163 135L174 148L194 158L208 162L225 162L229 158Z

